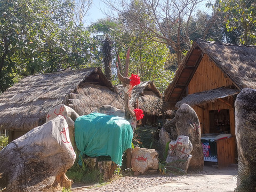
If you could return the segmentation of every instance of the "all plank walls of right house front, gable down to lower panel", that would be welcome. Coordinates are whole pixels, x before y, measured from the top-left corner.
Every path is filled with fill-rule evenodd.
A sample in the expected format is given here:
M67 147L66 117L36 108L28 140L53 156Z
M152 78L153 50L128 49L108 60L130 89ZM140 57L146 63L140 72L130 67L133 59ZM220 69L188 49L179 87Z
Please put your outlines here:
M232 86L231 80L204 54L203 59L188 85L188 94L216 89L222 86ZM235 138L235 113L233 97L209 102L202 106L191 106L196 111L201 124L201 133L210 133L210 110L228 109L230 116L230 132L232 137L217 141L218 167L226 167L236 163L237 149Z

